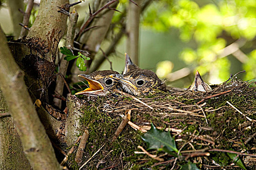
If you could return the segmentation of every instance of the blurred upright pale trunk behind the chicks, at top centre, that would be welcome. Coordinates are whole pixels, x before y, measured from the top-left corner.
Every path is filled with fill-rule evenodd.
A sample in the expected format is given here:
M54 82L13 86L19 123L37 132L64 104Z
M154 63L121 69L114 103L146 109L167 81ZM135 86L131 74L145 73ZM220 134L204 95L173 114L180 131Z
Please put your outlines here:
M136 3L140 5L141 0L136 0ZM139 17L140 7L129 1L127 18L127 41L126 51L131 57L134 64L138 66L139 55Z

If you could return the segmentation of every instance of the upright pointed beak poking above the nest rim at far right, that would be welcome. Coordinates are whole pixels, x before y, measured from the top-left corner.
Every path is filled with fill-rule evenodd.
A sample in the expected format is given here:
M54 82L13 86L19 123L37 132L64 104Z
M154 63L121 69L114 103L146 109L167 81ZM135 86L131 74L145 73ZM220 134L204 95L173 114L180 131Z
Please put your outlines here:
M212 91L212 88L210 87L210 85L208 85L203 81L199 72L196 71L195 80L193 84L188 87L188 90L208 92L208 91Z

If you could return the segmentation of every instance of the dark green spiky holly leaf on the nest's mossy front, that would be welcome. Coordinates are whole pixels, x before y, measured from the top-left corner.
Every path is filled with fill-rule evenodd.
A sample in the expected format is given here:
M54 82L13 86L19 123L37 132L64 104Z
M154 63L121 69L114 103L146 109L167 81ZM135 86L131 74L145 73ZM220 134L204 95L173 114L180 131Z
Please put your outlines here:
M164 150L166 152L178 152L175 140L172 138L170 132L162 132L151 123L151 129L145 133L141 138L148 143L148 149Z

